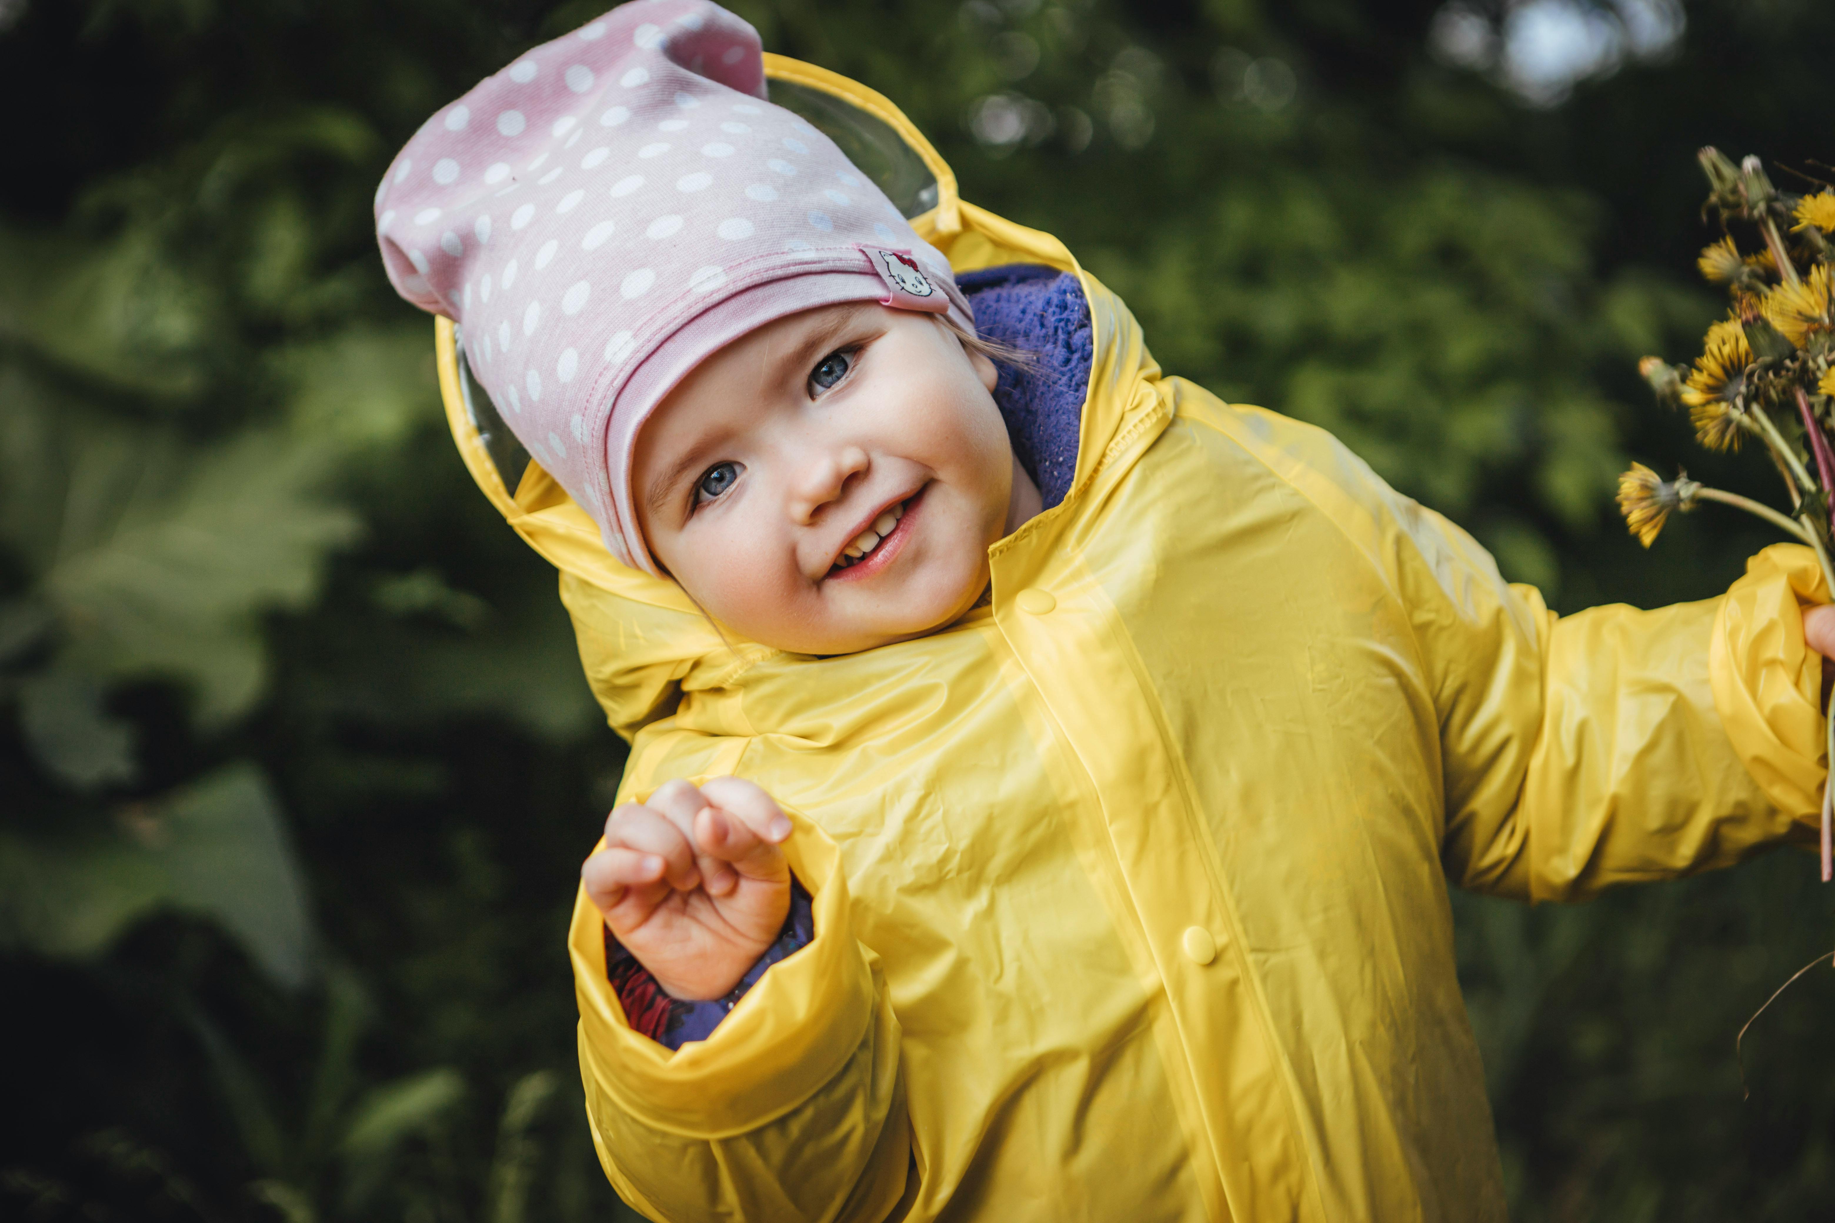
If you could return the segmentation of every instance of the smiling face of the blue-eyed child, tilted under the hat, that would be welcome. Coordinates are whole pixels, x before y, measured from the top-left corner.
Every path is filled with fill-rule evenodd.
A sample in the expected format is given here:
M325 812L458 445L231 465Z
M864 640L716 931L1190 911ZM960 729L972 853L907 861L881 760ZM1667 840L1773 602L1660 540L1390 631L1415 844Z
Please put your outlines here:
M987 585L987 545L1024 521L995 378L908 310L769 323L644 424L631 471L644 539L754 642L840 655L945 625Z

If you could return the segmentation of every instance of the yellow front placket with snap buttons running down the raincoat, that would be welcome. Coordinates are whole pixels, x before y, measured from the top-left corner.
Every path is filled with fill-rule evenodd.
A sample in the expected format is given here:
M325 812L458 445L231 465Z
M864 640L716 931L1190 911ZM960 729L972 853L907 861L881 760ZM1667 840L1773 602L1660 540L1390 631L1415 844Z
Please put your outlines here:
M1097 330L1112 334L1107 299L1094 301ZM1020 700L1040 706L1042 755L1079 796L1084 865L1163 999L1154 1036L1207 1214L1323 1219L1193 779L1116 609L1073 546L1084 524L1077 510L1101 502L1103 486L1123 479L1171 420L1158 385L1138 380L1143 354L1101 343L1097 352L1105 359L1092 370L1092 396L1132 391L1130 424L1090 457L1092 471L1079 471L1064 513L1035 519L993 550L995 620L1024 675Z

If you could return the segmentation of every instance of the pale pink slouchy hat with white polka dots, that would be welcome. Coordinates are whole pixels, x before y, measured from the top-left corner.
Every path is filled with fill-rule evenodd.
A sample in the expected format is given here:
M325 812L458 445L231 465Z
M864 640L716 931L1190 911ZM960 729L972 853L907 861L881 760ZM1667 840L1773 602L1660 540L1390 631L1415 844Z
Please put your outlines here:
M376 191L396 292L453 319L472 376L622 563L637 431L708 354L850 301L973 328L949 260L848 158L765 101L758 33L635 0L435 114Z

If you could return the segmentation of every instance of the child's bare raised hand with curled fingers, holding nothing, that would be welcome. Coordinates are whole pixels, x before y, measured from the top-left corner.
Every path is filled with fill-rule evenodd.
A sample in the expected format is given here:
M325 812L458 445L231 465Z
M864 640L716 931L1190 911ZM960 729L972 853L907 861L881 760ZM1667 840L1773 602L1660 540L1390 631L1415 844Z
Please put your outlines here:
M791 821L751 781L668 781L606 820L580 878L624 948L673 997L721 997L784 926Z

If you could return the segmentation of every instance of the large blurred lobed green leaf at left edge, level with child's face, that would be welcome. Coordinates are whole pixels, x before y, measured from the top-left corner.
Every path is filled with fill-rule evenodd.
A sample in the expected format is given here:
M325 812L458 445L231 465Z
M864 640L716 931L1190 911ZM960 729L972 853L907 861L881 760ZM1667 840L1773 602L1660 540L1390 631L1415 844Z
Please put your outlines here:
M53 611L61 660L187 684L220 726L259 695L261 616L308 605L358 519L319 491L328 436L248 429L215 446L101 414L0 358L0 543Z

